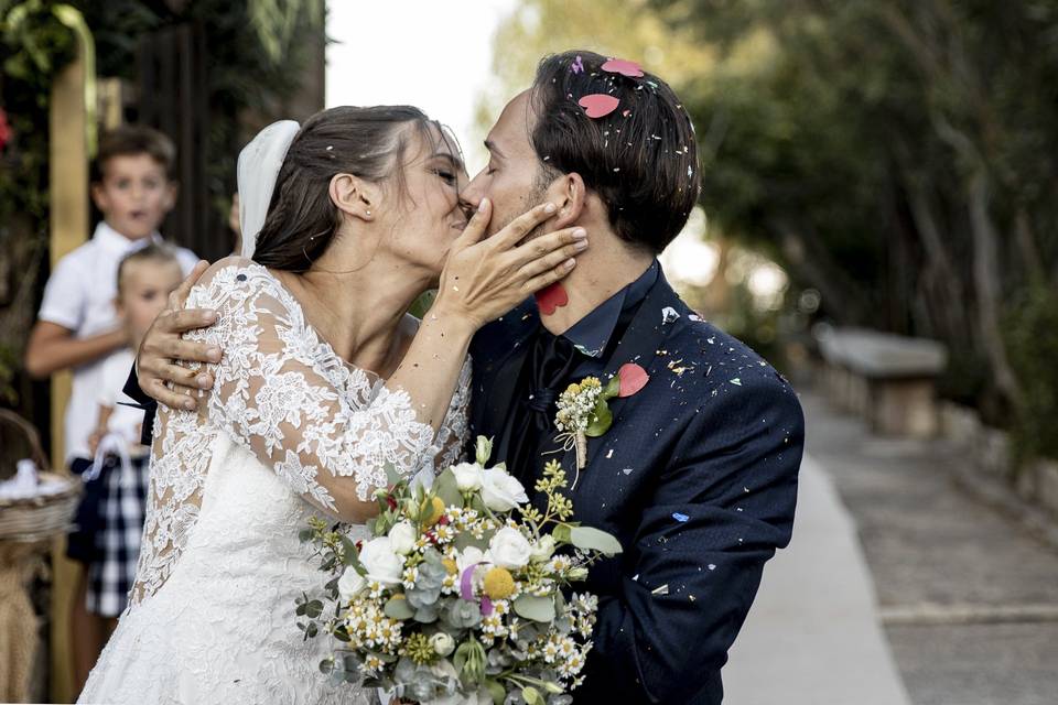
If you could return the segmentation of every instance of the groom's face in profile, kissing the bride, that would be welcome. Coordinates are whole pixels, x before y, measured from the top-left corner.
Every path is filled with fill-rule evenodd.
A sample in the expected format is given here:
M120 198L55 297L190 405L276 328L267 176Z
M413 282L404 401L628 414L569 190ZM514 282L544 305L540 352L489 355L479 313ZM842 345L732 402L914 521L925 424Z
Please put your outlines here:
M539 205L547 195L541 184L541 165L529 131L532 128L532 107L529 91L522 91L507 104L485 139L488 165L483 169L466 188L461 198L474 208L482 198L493 202L493 219L488 235L495 235L526 210ZM538 229L549 229L544 223ZM537 231L530 234L535 237Z

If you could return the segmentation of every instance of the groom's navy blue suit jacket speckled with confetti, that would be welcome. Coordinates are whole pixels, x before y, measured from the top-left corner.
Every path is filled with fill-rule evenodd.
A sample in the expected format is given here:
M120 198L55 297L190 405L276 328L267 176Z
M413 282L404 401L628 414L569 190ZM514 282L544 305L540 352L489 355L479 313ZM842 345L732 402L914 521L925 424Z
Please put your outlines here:
M499 434L539 325L529 301L475 337L472 437ZM606 370L629 361L650 381L609 402L613 426L589 440L572 492L574 519L624 546L592 568L585 586L600 596L598 623L574 701L719 704L720 670L764 564L790 540L800 403L778 372L699 319L663 276ZM563 458L571 478L574 456Z

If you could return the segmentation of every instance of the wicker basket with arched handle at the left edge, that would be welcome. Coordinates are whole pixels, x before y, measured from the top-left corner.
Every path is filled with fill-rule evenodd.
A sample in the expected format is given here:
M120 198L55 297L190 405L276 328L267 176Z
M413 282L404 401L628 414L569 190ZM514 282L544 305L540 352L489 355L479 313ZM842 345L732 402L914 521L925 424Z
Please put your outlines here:
M0 431L6 449L6 457L0 466L0 479L12 477L15 471L14 464L18 458L7 451L21 446L24 448L21 457L31 458L42 470L41 481L51 480L65 485L61 491L40 497L0 499L0 541L36 541L65 532L77 509L82 492L80 480L43 470L50 467L50 464L41 448L36 429L18 414L0 409Z

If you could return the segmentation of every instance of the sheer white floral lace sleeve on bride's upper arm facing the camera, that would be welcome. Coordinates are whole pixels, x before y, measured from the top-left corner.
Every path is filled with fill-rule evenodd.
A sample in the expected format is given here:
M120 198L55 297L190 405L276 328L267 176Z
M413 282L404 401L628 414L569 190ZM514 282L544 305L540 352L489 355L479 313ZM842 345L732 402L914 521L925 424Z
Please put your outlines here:
M264 268L220 267L187 305L219 313L203 332L224 350L212 366L212 420L295 492L341 516L385 486L387 464L406 476L421 465L434 433L409 395L381 384L373 395Z

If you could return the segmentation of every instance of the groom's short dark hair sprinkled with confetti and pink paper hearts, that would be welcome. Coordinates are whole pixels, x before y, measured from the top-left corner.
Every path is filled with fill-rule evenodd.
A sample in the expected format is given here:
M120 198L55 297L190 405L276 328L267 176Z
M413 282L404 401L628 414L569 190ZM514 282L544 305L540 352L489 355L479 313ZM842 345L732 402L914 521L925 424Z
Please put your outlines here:
M544 182L580 174L606 205L617 236L657 253L679 235L698 200L694 128L668 84L646 72L605 72L606 61L574 50L540 62L530 140ZM587 117L579 101L592 94L617 98L617 109Z

